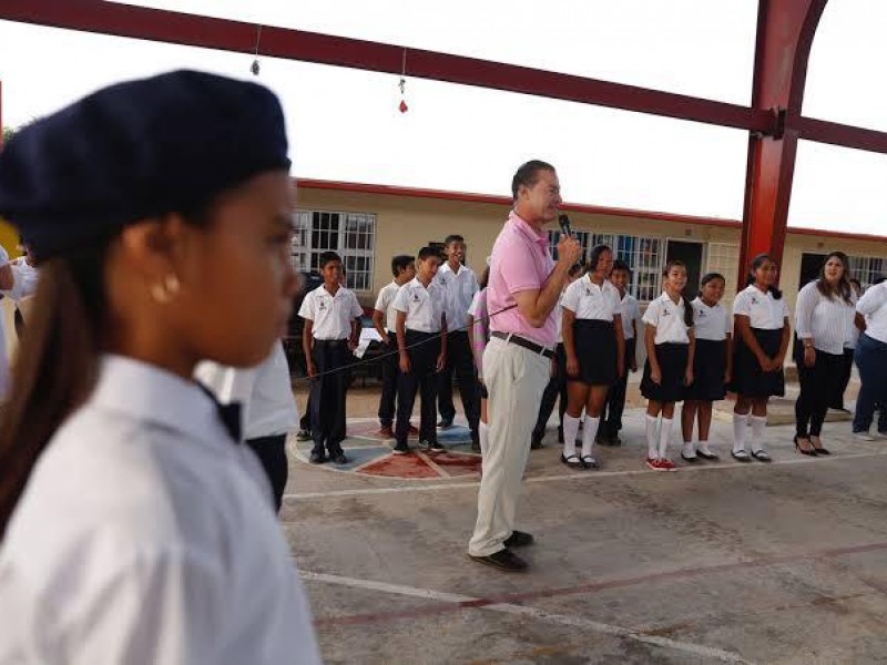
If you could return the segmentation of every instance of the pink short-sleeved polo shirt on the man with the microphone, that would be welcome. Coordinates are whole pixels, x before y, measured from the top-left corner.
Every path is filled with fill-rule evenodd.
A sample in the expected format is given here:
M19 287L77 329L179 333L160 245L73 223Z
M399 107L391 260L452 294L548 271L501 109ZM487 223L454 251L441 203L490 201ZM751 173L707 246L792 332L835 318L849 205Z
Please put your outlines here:
M540 290L553 269L554 262L551 260L548 249L548 234L537 233L512 211L496 238L490 257L490 280L487 288L487 308L493 315L490 330L513 332L548 347L558 344L558 325L553 311L541 328L531 326L517 307L496 314L514 305L513 294Z

